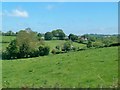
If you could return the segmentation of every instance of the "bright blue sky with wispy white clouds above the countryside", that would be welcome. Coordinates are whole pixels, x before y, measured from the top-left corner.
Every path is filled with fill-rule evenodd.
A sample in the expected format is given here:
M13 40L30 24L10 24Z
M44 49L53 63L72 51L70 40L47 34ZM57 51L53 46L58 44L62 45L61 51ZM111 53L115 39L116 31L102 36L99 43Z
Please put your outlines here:
M3 2L1 16L5 32L30 27L41 33L118 33L117 2Z

